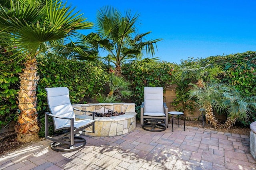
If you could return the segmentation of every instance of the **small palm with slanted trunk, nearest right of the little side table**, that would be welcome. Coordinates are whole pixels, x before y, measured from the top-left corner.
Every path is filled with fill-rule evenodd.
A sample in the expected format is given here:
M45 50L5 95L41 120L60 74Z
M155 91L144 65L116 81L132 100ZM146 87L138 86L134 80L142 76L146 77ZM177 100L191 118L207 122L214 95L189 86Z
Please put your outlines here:
M220 124L214 116L214 110L224 111L226 105L224 100L230 96L227 87L224 84L218 84L216 82L205 83L202 82L203 87L190 83L188 95L190 99L193 99L196 105L200 108L201 112L205 113L206 119L214 128L218 128Z

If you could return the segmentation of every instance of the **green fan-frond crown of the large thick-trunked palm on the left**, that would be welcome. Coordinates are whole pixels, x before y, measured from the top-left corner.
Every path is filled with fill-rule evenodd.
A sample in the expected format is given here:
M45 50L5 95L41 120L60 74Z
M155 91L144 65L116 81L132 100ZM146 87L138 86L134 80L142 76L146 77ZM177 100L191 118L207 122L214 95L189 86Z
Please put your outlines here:
M11 9L0 10L0 28L8 34L11 47L16 46L20 55L45 51L45 42L71 35L75 30L88 29L92 23L74 12L61 0L38 0L34 3L19 1ZM2 8L2 7L1 7Z

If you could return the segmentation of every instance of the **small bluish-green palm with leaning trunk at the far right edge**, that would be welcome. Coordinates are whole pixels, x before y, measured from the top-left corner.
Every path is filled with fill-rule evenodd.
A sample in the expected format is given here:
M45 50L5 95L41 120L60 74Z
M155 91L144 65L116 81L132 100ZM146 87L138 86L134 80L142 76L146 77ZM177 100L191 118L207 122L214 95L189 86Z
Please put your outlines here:
M232 128L237 120L248 121L250 114L256 111L256 96L244 96L235 86L229 86L231 96L226 101L228 118L224 128Z

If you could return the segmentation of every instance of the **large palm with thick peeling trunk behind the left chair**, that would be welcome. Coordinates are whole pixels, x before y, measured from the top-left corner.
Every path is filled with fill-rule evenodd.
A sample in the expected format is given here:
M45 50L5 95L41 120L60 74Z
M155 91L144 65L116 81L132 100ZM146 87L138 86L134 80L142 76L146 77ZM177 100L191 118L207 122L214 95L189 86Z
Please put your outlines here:
M26 60L18 94L18 141L36 140L40 129L36 111L36 56L56 44L56 40L91 28L92 23L85 20L61 0L10 0L10 8L0 5L0 42L8 44L8 51L16 57Z

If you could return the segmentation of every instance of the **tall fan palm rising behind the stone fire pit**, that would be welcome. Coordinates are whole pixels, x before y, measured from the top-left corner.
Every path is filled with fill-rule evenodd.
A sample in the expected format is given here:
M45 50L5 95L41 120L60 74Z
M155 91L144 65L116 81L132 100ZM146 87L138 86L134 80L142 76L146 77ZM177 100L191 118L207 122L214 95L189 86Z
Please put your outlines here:
M161 39L144 41L151 32L136 33L138 16L127 11L124 16L115 8L105 7L98 11L96 33L80 37L81 42L89 43L94 51L106 51L100 57L116 67L115 74L121 75L121 65L130 59L142 59L143 53L154 55L154 45ZM154 58L156 59L156 58ZM153 59L153 60L154 60Z

